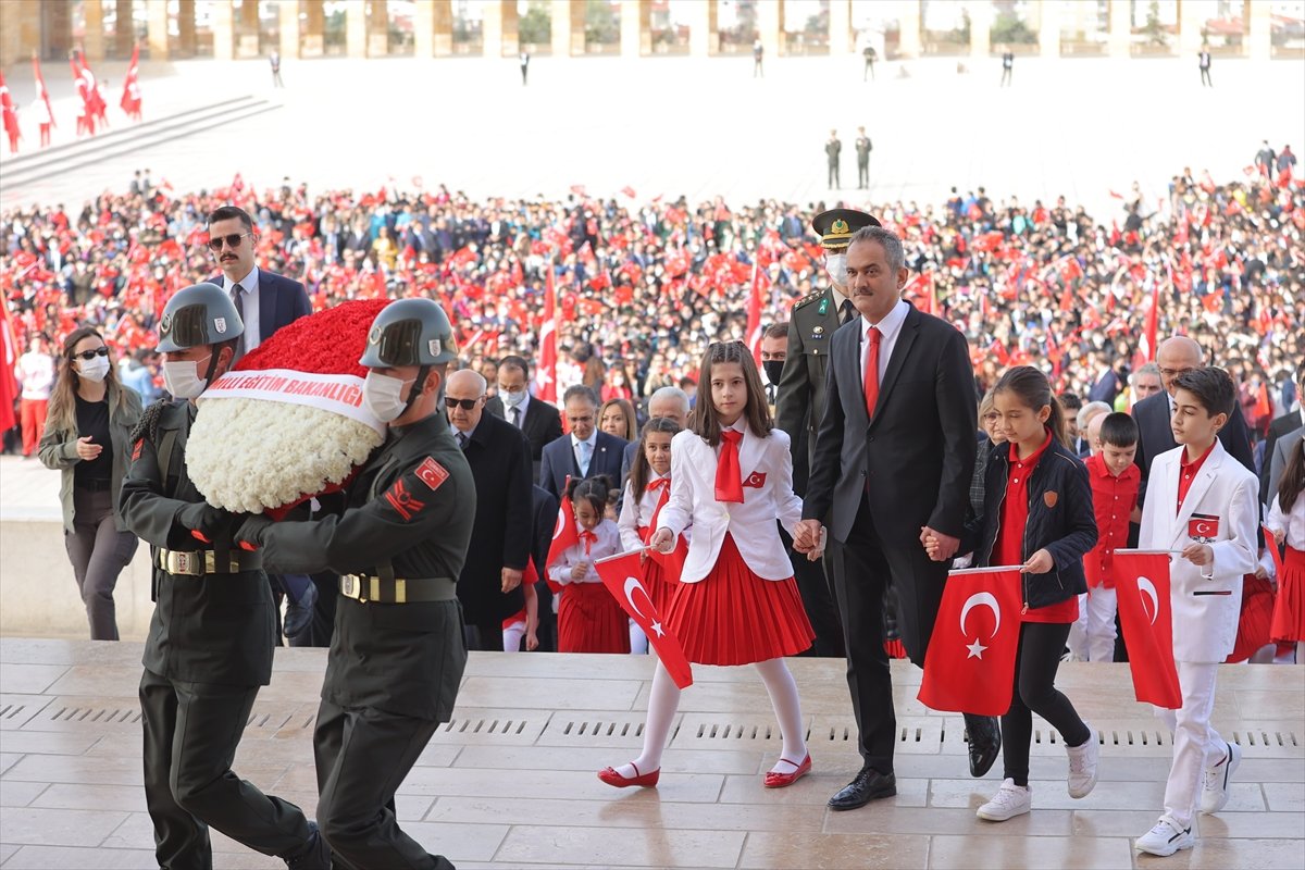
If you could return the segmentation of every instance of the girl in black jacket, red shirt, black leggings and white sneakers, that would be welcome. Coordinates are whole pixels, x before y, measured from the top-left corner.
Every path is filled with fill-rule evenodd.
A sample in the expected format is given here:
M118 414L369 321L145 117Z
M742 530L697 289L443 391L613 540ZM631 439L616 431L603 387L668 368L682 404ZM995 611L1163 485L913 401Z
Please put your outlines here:
M1007 445L994 446L984 477L984 507L966 524L960 550L976 566L1018 565L1023 608L1015 691L1001 717L1005 781L979 807L992 822L1031 806L1028 746L1032 712L1061 733L1069 751L1069 794L1086 797L1096 785L1096 733L1056 689L1078 596L1087 592L1083 554L1096 544L1096 519L1087 468L1065 445L1065 416L1047 376L1023 365L993 387Z

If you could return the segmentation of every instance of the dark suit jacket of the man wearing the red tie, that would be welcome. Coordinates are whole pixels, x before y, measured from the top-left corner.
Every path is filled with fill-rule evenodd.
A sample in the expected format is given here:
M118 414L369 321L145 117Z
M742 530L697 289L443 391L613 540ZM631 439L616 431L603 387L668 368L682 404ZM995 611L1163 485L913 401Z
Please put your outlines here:
M861 386L861 320L830 342L825 417L803 517L846 541L861 493L885 541L919 547L920 527L960 537L975 466L974 369L966 338L914 307L880 383L874 420Z

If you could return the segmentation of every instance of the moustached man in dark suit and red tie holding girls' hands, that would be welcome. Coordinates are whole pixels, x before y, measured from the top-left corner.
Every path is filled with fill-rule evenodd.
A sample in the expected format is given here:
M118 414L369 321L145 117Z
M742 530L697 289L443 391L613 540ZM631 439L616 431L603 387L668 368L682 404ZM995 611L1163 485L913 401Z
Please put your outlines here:
M825 416L795 535L799 550L814 552L829 517L829 536L843 544L835 592L863 767L830 798L835 810L897 794L883 590L889 582L897 587L902 642L923 667L975 464L966 339L902 300L903 263L893 232L864 227L852 236L847 277L859 317L830 342ZM947 543L937 561L924 550L927 535ZM1001 747L996 719L967 713L966 728L971 773L983 776Z

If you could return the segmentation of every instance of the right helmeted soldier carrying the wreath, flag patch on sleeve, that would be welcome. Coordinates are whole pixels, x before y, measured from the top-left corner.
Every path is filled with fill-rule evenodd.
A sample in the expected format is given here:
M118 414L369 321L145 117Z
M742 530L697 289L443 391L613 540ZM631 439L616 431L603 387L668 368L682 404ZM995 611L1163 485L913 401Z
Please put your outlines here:
M313 733L317 819L335 867L453 867L399 830L394 792L449 720L467 663L457 578L476 489L437 407L455 357L438 304L386 305L359 363L363 400L390 430L348 487L343 514L251 517L238 532L278 570L342 575Z

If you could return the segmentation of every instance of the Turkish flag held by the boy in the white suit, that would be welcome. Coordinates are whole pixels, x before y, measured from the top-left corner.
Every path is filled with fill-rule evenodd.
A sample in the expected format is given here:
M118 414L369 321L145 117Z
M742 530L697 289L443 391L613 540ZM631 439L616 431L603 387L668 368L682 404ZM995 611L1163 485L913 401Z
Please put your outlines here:
M1169 554L1114 550L1114 591L1120 625L1129 647L1133 693L1138 700L1177 710L1182 706L1173 664L1173 614L1169 605Z

